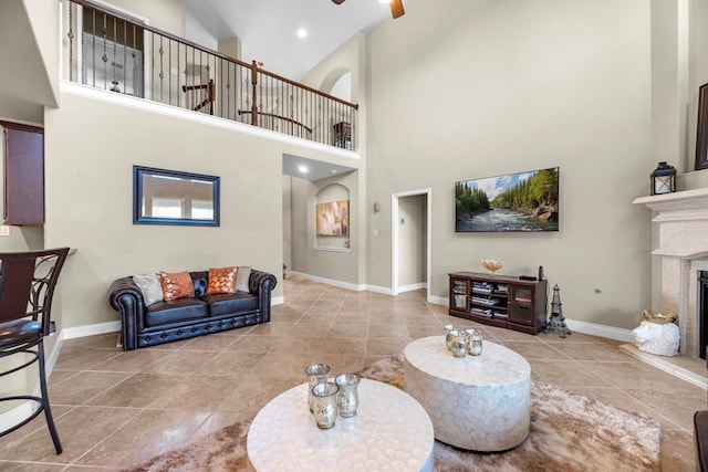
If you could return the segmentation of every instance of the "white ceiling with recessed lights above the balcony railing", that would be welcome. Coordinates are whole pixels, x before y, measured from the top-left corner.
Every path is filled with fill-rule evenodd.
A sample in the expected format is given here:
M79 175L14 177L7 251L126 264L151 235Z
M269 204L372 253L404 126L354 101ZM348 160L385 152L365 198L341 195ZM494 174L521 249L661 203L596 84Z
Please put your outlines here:
M241 60L300 81L360 31L394 21L379 0L185 0L189 14L217 40L239 38ZM402 21L402 20L397 20ZM298 30L308 31L304 39Z

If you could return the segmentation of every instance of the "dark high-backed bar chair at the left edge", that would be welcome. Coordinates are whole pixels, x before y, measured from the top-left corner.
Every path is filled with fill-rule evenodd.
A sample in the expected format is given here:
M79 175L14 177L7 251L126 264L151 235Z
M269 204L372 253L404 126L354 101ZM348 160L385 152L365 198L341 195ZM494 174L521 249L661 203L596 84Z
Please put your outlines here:
M0 373L0 377L17 373L39 363L40 396L13 395L0 401L31 400L39 408L21 422L0 431L0 437L11 433L32 421L44 411L54 449L62 453L56 427L46 394L44 368L44 336L53 332L51 323L52 297L59 273L69 254L69 248L30 252L0 253L0 359L22 355L20 366ZM27 355L30 355L29 360Z

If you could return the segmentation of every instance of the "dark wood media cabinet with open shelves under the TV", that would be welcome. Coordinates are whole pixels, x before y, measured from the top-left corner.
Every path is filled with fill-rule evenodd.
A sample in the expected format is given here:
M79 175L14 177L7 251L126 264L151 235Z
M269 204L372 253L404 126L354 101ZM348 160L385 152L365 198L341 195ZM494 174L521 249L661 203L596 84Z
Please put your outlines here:
M477 272L449 275L450 316L529 334L545 328L546 281Z

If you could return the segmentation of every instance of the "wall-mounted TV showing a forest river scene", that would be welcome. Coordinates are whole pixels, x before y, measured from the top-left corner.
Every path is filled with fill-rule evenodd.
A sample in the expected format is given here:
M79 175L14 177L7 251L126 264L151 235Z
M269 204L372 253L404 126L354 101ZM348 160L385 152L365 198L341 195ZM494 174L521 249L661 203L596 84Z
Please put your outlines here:
M455 183L455 231L558 231L559 168Z

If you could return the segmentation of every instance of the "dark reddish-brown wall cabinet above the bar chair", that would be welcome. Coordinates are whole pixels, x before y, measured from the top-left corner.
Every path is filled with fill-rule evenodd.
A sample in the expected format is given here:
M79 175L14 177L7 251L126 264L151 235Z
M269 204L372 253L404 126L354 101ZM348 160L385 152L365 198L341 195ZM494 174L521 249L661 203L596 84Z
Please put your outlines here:
M4 224L44 224L44 130L0 122Z

